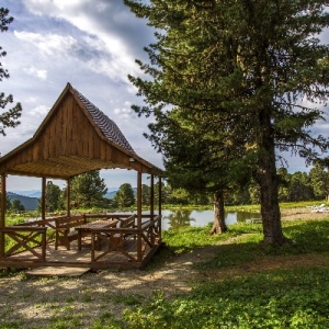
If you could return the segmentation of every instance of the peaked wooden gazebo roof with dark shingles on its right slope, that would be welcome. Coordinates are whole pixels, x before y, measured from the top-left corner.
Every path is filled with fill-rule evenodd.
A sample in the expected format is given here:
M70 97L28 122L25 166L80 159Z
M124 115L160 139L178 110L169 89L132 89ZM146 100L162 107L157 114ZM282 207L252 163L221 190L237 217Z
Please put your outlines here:
M140 158L117 125L70 83L33 137L0 158L0 173L5 174L69 179L110 168L163 174Z

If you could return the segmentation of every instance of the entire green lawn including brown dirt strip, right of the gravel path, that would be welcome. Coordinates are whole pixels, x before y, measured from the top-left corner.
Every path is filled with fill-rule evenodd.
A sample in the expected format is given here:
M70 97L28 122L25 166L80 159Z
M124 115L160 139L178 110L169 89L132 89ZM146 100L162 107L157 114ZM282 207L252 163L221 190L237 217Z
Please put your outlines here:
M173 254L206 254L212 249L211 258L195 262L197 276L191 280L191 291L170 297L161 291L143 297L118 295L125 309L118 317L103 304L102 316L86 327L89 314L81 309L93 303L89 293L67 302L66 307L71 307L67 315L60 309L45 328L328 328L329 217L287 220L283 228L294 243L281 249L260 247L259 224L231 225L222 236L209 236L209 227L164 231L166 247L146 274L166 266ZM53 303L49 309L57 307ZM29 328L29 324L13 320L0 328Z

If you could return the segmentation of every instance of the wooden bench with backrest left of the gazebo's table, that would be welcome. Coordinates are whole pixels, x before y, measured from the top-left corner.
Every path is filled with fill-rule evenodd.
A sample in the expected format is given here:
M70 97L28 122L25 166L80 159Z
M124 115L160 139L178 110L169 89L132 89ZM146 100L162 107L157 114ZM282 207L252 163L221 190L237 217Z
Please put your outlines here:
M73 228L87 223L86 215L72 216L55 219L55 249L58 246L65 246L67 250L70 250L70 242L78 240L79 234Z

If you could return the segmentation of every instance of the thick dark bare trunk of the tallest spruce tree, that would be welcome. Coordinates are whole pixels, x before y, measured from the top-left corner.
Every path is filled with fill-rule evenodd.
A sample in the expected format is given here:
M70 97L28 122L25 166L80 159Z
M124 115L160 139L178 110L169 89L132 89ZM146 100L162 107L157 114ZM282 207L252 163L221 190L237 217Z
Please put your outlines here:
M279 206L277 175L275 166L274 134L272 131L270 111L260 114L262 128L259 178L261 192L261 217L263 225L264 245L283 245L288 241L282 232Z

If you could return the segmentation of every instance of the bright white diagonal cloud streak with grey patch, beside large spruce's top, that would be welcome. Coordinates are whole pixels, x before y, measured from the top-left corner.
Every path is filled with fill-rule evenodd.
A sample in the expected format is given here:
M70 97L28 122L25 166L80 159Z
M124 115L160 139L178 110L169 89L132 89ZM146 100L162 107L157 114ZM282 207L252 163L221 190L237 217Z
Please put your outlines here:
M95 46L99 50L101 46L102 52L107 53L111 58L111 60L109 58L104 60L107 65L105 63L99 65L103 72L114 75L116 79L120 77L125 79L127 72L137 71L131 42L134 42L134 34L138 33L136 27L141 25L136 24L139 23L137 20L133 20L134 26L133 14L123 3L98 1L95 5L94 0L25 0L24 3L35 14L65 20L87 34L86 42L90 46ZM122 31L125 31L127 38L122 37ZM98 41L90 36L97 36ZM143 46L140 44L140 50ZM90 67L95 69L93 61L90 63Z

